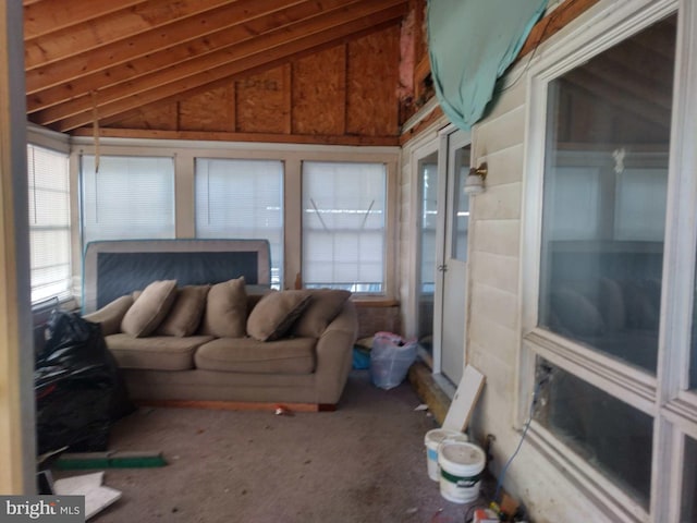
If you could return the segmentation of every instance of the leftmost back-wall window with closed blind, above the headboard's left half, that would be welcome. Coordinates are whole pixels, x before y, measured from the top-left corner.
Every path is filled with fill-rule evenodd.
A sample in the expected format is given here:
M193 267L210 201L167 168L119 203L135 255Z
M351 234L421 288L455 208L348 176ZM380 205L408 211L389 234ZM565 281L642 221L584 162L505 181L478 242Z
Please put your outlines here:
M82 157L83 245L174 238L172 158Z

